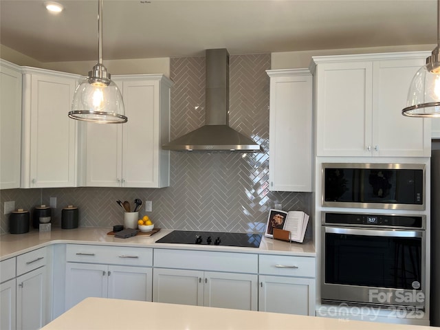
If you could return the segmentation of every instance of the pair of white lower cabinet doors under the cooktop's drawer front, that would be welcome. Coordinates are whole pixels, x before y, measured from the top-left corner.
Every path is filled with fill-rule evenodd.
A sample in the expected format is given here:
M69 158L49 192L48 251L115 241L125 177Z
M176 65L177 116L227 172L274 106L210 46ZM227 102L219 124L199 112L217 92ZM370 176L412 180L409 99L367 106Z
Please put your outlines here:
M256 274L157 268L153 301L256 311L257 281Z

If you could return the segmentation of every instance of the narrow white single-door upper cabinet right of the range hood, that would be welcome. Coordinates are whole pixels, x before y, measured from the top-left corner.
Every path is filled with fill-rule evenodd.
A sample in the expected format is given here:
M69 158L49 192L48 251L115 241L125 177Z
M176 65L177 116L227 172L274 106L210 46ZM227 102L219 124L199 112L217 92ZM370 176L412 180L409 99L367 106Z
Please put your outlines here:
M270 190L311 191L312 77L308 69L269 70Z

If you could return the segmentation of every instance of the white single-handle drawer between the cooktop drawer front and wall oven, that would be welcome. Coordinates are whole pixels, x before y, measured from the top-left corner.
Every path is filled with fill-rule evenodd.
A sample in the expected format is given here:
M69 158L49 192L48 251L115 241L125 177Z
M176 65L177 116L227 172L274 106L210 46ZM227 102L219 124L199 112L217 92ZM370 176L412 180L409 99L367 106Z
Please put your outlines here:
M316 277L315 258L260 255L259 274Z

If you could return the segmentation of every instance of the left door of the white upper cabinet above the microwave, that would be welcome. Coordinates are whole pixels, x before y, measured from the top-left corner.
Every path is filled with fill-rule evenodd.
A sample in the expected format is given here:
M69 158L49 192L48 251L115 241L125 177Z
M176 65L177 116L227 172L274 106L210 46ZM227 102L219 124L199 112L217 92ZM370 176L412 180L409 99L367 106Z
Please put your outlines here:
M318 65L318 156L371 155L372 72L371 61Z

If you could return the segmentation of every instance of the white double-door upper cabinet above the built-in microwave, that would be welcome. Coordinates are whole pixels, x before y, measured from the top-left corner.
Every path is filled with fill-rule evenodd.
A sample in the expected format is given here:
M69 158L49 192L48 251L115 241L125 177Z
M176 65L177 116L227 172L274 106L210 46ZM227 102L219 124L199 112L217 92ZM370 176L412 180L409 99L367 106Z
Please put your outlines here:
M430 121L401 115L427 56L314 57L317 155L429 157Z

